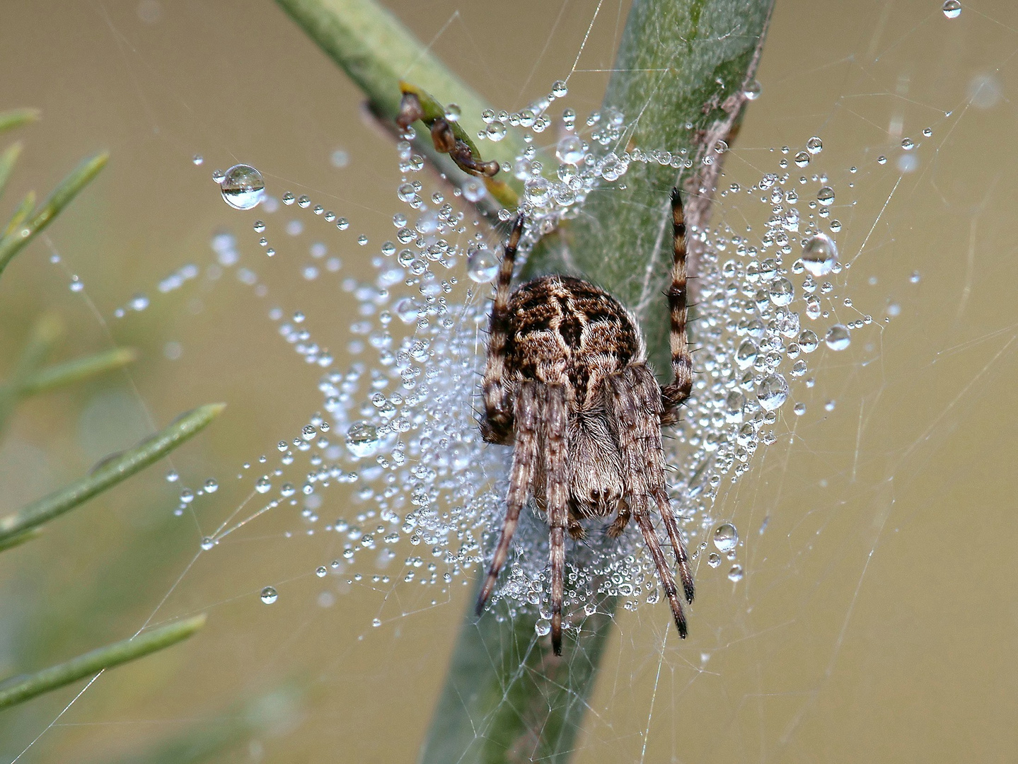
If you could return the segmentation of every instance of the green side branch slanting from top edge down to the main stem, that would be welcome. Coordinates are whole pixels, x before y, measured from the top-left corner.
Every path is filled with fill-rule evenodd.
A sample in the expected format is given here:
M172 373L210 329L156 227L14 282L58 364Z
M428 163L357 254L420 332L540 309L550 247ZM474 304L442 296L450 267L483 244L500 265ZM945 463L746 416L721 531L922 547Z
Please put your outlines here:
M460 123L474 135L485 125L480 114L491 107L421 44L398 18L374 0L277 0L297 24L349 75L369 99L372 112L394 124L405 80L433 95L442 104L456 104ZM449 178L466 176L445 155L435 152L431 135L418 122L416 146ZM485 160L510 166L525 144L516 135L482 143ZM522 186L510 173L502 180L520 193Z

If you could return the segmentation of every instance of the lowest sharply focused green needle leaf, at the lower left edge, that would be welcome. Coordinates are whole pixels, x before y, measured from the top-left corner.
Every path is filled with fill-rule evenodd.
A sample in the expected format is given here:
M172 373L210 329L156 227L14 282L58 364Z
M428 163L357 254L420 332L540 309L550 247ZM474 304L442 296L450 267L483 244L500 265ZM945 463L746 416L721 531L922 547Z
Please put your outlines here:
M174 645L187 639L203 626L205 626L205 615L195 615L100 647L36 673L12 677L0 684L0 710L91 677L104 668L112 668Z

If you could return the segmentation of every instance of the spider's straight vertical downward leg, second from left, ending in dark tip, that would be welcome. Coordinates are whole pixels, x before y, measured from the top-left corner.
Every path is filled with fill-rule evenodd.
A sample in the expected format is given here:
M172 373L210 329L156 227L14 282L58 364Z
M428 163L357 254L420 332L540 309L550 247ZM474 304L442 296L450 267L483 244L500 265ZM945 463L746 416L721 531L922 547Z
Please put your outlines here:
M552 566L552 649L562 654L562 597L565 588L566 526L569 522L569 403L564 385L549 385L545 399L545 496Z

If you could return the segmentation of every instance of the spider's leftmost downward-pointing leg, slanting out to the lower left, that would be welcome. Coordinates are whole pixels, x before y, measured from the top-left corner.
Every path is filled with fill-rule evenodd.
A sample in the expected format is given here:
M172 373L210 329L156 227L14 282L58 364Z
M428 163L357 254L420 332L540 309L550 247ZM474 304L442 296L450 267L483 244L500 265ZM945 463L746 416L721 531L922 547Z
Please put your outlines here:
M533 467L538 457L538 416L540 413L540 388L538 383L524 381L516 396L516 440L513 445L512 469L509 473L509 490L506 493L506 519L499 535L488 578L477 596L476 612L479 615L488 598L492 596L495 582L509 556L509 542L516 532L519 512L526 503L533 481Z

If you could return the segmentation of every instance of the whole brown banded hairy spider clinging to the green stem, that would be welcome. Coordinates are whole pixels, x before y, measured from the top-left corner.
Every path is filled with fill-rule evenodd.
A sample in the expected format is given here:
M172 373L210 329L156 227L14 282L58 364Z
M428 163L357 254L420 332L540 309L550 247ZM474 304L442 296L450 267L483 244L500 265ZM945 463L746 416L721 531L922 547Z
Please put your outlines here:
M651 507L657 505L672 543L686 601L693 601L689 560L668 499L661 427L678 420L692 389L686 343L686 227L678 189L672 190L671 309L674 380L659 386L646 363L635 317L592 284L544 276L510 293L524 217L516 218L499 270L489 325L482 434L513 447L506 518L480 595L492 594L509 553L520 510L531 496L551 526L552 647L562 654L565 533L584 534L580 520L615 519L617 538L631 518L643 533L672 606L679 636L686 620Z

